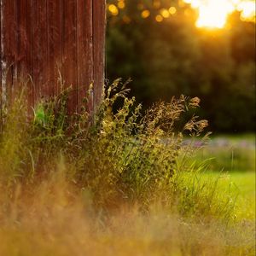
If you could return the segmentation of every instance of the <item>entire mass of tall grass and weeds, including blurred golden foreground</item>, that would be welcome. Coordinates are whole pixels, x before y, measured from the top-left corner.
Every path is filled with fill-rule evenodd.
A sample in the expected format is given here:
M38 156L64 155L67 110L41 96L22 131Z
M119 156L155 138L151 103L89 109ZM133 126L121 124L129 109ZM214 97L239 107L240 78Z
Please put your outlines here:
M104 88L95 115L86 100L68 115L69 90L32 118L23 93L4 109L0 254L253 255L252 224L239 224L233 195L189 164L183 133L207 126L188 119L199 99L142 114L125 85Z

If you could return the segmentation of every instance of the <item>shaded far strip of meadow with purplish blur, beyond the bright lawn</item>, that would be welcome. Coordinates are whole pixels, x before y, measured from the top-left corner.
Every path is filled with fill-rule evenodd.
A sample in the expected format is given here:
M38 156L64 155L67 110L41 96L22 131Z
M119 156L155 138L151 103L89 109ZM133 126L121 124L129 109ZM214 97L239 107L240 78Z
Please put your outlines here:
M252 134L210 137L203 146L195 141L195 148L195 160L199 164L207 161L207 170L211 172L255 172L255 137Z

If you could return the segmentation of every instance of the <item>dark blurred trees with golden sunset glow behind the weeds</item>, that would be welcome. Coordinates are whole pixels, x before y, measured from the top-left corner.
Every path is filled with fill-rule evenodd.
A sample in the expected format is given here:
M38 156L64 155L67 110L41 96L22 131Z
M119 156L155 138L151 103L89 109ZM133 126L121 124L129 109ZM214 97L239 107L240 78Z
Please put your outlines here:
M131 78L144 108L199 96L212 131L255 131L254 21L234 11L223 28L206 29L197 17L180 0L108 0L107 78Z

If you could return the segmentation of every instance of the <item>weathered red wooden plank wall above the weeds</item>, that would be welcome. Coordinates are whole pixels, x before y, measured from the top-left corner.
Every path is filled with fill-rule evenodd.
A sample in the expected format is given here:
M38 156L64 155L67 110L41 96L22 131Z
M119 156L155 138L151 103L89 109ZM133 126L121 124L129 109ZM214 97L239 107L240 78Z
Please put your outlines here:
M0 2L2 104L26 84L33 106L41 97L58 94L61 78L73 87L72 110L91 83L96 106L104 74L105 0Z

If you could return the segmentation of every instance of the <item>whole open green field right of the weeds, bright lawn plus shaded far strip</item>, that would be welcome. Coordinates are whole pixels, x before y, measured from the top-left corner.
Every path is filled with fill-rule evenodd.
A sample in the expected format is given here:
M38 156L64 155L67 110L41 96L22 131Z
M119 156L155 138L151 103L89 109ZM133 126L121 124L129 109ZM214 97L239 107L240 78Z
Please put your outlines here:
M195 155L199 161L210 159L205 178L218 178L219 192L229 189L236 196L237 218L255 219L255 137L212 137Z

